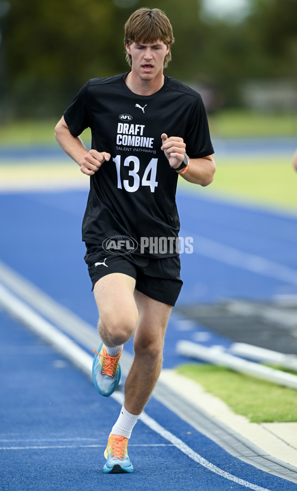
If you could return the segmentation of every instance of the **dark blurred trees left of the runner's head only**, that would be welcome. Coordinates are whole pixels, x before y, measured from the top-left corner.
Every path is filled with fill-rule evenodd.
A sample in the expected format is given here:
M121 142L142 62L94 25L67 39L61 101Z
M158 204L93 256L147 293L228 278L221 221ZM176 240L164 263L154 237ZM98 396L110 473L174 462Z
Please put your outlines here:
M116 13L108 0L11 1L9 89L19 114L57 114L86 80L123 67Z

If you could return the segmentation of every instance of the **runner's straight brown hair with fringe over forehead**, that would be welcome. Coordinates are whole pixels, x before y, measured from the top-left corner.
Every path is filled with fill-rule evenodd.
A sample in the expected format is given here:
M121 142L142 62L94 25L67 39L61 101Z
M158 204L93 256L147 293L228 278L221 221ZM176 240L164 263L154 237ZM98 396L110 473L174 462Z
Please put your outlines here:
M125 24L124 45L135 43L154 43L160 39L166 45L174 43L172 26L166 14L159 8L139 8ZM171 51L164 58L164 68L171 60ZM132 56L126 53L126 61L132 66Z

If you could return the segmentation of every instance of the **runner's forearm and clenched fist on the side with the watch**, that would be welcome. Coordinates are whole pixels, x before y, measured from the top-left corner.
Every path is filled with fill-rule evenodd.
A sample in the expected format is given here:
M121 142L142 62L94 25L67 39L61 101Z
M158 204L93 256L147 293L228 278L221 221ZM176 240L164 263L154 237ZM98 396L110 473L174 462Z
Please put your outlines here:
M164 151L169 164L173 169L180 167L186 153L186 144L184 143L184 140L175 136L168 138L165 133L161 135L161 138L161 150ZM213 181L215 173L213 155L207 155L200 159L189 158L189 167L186 171L185 170L182 171L183 173L181 173L181 176L186 179L186 181L200 184L200 186L208 186L208 184Z

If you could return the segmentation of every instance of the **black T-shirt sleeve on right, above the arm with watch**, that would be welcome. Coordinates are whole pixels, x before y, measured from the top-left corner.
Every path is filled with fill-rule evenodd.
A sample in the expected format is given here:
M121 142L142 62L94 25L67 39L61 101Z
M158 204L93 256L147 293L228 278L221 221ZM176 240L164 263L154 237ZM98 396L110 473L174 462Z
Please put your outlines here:
M192 159L214 153L210 140L207 115L200 94L193 106L186 131L186 152Z

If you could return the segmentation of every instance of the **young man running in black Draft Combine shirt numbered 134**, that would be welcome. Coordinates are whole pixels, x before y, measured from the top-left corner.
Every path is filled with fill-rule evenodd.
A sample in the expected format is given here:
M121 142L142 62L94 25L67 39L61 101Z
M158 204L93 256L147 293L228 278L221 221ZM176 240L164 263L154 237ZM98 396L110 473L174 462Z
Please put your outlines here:
M200 95L163 74L173 42L164 12L138 9L125 24L131 71L87 82L56 126L58 143L91 176L82 228L103 341L93 363L100 394L116 389L123 345L134 334L124 405L104 452L107 473L133 471L128 438L159 377L182 286L178 176L207 186L215 172ZM79 138L87 127L90 151Z

